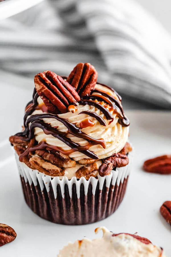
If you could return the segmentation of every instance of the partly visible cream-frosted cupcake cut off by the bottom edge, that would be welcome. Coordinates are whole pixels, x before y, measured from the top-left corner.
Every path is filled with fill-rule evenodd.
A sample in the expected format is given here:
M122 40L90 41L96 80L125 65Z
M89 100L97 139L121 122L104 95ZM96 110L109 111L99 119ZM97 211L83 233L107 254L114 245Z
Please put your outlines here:
M96 228L95 233L99 230L103 230L102 238L84 238L74 244L69 243L59 251L58 257L166 257L163 249L154 246L147 238L127 233L113 234L105 227Z

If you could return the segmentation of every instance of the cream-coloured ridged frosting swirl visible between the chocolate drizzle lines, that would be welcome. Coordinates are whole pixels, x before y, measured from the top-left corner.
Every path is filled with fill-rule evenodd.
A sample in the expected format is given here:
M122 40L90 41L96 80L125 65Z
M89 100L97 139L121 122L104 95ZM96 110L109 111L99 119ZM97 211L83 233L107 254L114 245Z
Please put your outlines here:
M109 96L114 97L119 102L118 96L111 89L100 84L96 84L95 89L98 91L104 92ZM92 96L93 95L100 96L101 94L92 93ZM43 101L41 100L40 97L38 97L37 102L40 107L43 106ZM79 104L76 107L76 111L74 113L72 113L72 111L68 111L67 113L59 114L58 116L62 119L67 119L70 123L75 124L76 127L80 127L80 125L82 125L82 123L85 121L84 122L85 127L81 128L81 131L92 138L103 139L105 141L105 147L102 146L101 144L91 145L90 143L89 150L91 152L94 152L99 159L104 159L111 156L114 153L119 152L124 147L128 139L129 126L123 127L119 123L119 116L115 109L111 108L108 104L102 101L100 102L100 104L104 106L107 110L109 110L109 112L113 117L113 121L107 120L104 113L102 113L100 109L96 108L93 105L87 105L87 104L86 105ZM89 111L91 113L96 113L97 115L99 115L105 122L106 126L101 125L95 117L91 117L90 115L82 113L84 111ZM44 112L41 109L39 109L39 110L34 110L31 115L38 115L42 113ZM78 143L80 144L80 146L85 146L89 144L89 142L86 139L67 133L68 128L60 121L53 118L44 118L42 120L44 123L48 123L51 127L56 128L58 131L66 134L66 137L69 138L72 142ZM86 121L87 121L87 126L86 126ZM89 125L88 121L91 121L91 124L93 124L93 126ZM82 152L79 152L79 151L72 152L72 149L70 146L62 142L60 139L52 136L51 134L45 134L41 128L35 127L34 135L38 143L40 143L41 141L46 141L46 143L50 145L54 145L62 148L66 153L71 151L71 153L69 153L68 156L70 156L70 158L73 158L76 161L83 158L89 158L88 156L86 156L86 154Z

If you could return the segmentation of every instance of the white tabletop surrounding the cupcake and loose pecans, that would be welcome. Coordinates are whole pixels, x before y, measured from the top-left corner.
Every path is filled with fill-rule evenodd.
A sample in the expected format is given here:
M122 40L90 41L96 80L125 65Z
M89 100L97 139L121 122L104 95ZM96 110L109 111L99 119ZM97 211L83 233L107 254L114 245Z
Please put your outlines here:
M114 214L94 224L54 224L38 217L25 203L8 142L8 137L22 125L24 107L32 96L33 80L5 73L0 73L0 77L0 223L12 226L17 232L13 242L0 247L0 256L57 256L68 241L101 236L101 233L94 234L98 226L106 226L114 233L138 232L171 256L171 226L159 212L161 204L171 200L171 175L150 174L141 169L144 160L171 153L171 112L126 111L131 121L130 140L135 158L125 198Z

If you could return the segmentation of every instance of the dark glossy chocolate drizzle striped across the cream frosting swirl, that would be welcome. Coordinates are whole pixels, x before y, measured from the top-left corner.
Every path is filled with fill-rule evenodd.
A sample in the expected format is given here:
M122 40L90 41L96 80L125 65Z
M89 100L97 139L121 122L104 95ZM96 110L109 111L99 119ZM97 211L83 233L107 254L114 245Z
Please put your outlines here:
M100 85L112 90L118 96L119 100L121 101L120 95L114 89L112 89L104 84L100 84ZM105 115L106 119L110 120L110 123L113 121L113 116L110 113L110 111L113 109L113 111L115 111L117 113L117 116L119 116L119 123L124 127L129 126L129 120L127 119L127 117L125 116L125 114L123 112L123 108L122 108L120 101L115 99L113 96L111 96L101 90L98 90L98 89L94 89L91 93L99 93L101 95L95 94L95 95L86 96L86 99L80 100L79 104L80 105L92 105L95 108L98 108ZM23 154L20 155L20 160L22 161L23 156L27 155L30 151L35 151L37 149L44 149L44 148L49 149L49 150L60 151L64 154L68 154L68 155L74 151L79 151L90 158L98 159L98 156L93 151L90 151L89 147L93 146L95 144L100 144L103 148L105 148L105 141L103 139L92 138L91 136L82 132L81 128L76 127L76 125L74 123L69 122L68 119L59 117L58 115L54 115L54 114L50 114L50 113L43 113L43 114L37 114L37 115L32 115L32 116L28 117L29 115L32 114L32 112L35 109L40 109L38 106L38 103L37 103L38 96L39 95L36 92L36 89L34 89L33 99L32 99L32 101L30 101L27 104L26 112L24 115L25 130L23 132L19 132L16 134L17 136L21 136L22 140L30 141L30 144L28 145L25 152L23 152ZM100 102L98 102L98 101L100 101ZM103 102L104 106L101 104L101 102ZM106 104L109 107L105 108ZM82 114L82 113L87 114L91 117L94 117L100 123L100 125L106 126L104 119L101 116L97 115L97 113L91 112L91 111L82 111L79 114ZM51 127L48 123L44 123L44 121L42 120L44 118L53 118L53 119L56 119L57 121L60 121L66 128L68 128L68 131L61 132L61 131L57 130L56 128ZM29 126L29 124L30 124L30 126ZM44 141L41 141L39 144L37 144L37 142L34 138L34 128L35 127L41 128L45 134L50 134L50 135L58 138L59 140L61 140L65 144L67 144L71 148L71 150L65 151L64 149L62 149L58 146L49 145ZM70 133L76 137L79 137L79 138L84 138L89 143L86 146L80 146L79 143L75 143L70 138L67 137L68 133Z

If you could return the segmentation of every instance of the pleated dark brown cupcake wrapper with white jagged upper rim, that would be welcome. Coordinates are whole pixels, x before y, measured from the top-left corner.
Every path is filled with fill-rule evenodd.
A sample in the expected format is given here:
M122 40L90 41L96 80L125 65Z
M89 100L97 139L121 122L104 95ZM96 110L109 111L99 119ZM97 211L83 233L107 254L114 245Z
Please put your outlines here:
M125 194L129 164L98 179L50 177L30 169L15 153L23 193L28 206L39 216L55 223L87 224L111 215Z

